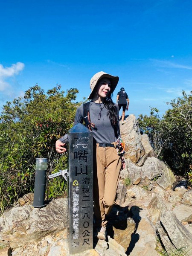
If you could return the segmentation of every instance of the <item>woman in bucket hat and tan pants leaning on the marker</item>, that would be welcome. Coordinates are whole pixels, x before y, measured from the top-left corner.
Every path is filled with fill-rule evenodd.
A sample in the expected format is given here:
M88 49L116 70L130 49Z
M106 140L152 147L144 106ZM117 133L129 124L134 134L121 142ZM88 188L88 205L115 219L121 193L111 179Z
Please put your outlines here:
M119 108L111 94L119 81L118 76L96 73L90 80L89 114L84 117L84 106L76 112L74 125L82 123L93 131L93 198L94 218L98 239L106 239L106 215L116 200L121 168L125 168L123 155L118 155L115 143L120 136ZM87 104L87 103L85 103ZM67 135L56 141L56 151L63 153Z

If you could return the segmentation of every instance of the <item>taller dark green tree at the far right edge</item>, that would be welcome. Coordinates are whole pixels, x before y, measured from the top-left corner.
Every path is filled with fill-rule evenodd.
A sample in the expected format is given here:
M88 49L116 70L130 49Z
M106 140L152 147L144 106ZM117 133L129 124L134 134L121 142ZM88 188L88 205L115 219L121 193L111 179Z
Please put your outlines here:
M162 120L163 138L167 138L163 154L173 169L186 173L192 163L192 95L182 94L167 103L171 108Z

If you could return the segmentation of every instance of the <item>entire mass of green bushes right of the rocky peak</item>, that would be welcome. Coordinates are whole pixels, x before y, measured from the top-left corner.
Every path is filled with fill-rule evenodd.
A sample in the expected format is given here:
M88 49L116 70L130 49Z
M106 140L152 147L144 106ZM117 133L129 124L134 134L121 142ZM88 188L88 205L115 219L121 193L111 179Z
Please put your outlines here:
M177 174L186 174L192 163L192 95L184 91L182 95L167 103L171 108L162 119L156 108L151 108L150 116L140 115L138 119L157 156Z

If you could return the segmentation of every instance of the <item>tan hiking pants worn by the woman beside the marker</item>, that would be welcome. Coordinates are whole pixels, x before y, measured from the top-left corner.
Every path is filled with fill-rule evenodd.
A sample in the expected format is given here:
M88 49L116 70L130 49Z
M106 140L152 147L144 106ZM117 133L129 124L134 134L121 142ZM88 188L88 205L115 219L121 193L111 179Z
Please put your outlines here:
M99 227L107 224L105 215L115 203L122 161L116 148L99 147L98 143L95 154L93 197L95 225Z

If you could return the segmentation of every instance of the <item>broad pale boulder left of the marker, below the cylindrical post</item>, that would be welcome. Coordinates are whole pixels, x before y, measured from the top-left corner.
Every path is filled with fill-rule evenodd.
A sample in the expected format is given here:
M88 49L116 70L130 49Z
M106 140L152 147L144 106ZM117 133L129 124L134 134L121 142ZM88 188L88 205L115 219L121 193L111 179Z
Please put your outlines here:
M66 228L67 198L61 198L41 209L29 204L4 212L0 218L0 240L14 248Z

